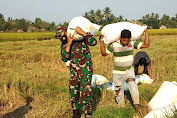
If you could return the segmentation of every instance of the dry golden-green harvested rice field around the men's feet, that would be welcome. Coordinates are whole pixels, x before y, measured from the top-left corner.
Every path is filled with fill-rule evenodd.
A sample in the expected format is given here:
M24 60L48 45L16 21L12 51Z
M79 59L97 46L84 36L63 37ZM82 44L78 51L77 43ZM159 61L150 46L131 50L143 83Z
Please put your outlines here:
M95 89L93 117L142 118L148 113L147 103L163 81L176 81L177 35L155 35L150 36L150 40L150 47L143 51L152 60L152 74L156 81L150 85L138 85L141 112L135 112L128 100L129 93L126 93L126 107L118 109L112 91ZM99 43L90 50L94 74L112 81L112 55L102 57ZM26 112L27 118L69 118L72 110L68 84L69 69L61 61L59 40L0 42L0 116L17 113L14 110L24 106L32 97L32 109Z

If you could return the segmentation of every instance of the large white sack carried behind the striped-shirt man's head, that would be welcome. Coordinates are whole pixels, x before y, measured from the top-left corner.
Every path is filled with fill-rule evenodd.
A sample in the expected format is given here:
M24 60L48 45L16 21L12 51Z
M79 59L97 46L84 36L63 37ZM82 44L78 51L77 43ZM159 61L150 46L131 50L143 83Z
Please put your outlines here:
M120 39L120 35L122 30L127 29L131 31L131 40L140 40L142 33L145 29L147 29L147 26L140 26L137 24L133 24L130 22L119 22L119 23L113 23L109 24L103 27L101 30L102 35L104 35L104 42L106 44L113 43Z

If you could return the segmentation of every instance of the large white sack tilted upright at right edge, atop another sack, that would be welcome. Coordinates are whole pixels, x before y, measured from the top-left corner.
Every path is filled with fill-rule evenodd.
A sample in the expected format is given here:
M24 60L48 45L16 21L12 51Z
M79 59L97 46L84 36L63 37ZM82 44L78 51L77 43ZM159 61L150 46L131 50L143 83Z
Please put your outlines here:
M149 109L158 109L175 102L177 102L177 86L172 82L164 81L148 103L148 107Z

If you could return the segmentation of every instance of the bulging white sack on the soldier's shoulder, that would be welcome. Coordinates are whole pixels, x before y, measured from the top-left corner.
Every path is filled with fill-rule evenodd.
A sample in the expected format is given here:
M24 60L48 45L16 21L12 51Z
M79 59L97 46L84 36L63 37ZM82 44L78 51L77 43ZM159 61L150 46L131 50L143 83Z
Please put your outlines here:
M71 37L75 40L82 40L83 36L75 32L75 28L79 26L85 33L90 33L95 36L101 26L90 22L88 19L82 16L74 17L68 25L67 32L71 34Z

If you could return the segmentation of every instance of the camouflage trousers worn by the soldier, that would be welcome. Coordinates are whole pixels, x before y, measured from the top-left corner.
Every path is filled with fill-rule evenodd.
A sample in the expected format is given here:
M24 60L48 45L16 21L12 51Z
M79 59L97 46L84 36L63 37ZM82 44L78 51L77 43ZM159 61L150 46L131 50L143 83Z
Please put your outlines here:
M82 110L85 114L92 113L91 106L91 80L93 69L70 68L69 92L71 95L71 106L73 110Z

